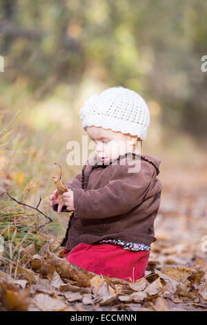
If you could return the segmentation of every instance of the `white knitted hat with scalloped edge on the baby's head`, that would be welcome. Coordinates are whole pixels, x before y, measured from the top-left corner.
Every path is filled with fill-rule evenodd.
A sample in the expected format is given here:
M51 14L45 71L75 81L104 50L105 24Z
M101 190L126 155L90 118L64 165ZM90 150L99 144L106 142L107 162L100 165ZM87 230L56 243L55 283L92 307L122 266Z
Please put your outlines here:
M112 87L99 95L91 95L79 111L82 128L103 127L130 133L146 139L150 112L144 99L135 91L122 86Z

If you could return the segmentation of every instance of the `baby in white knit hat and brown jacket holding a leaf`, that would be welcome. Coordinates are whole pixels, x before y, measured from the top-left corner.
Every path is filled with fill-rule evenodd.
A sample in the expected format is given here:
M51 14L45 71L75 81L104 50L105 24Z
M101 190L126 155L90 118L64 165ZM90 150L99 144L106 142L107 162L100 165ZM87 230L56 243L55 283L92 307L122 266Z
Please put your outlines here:
M140 154L150 124L144 99L122 86L92 95L80 110L82 127L95 142L63 201L53 210L72 212L61 246L66 260L98 275L126 281L145 276L161 199L161 160ZM133 167L133 168L132 168Z

